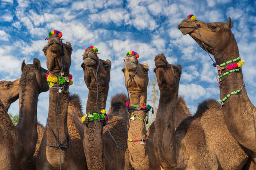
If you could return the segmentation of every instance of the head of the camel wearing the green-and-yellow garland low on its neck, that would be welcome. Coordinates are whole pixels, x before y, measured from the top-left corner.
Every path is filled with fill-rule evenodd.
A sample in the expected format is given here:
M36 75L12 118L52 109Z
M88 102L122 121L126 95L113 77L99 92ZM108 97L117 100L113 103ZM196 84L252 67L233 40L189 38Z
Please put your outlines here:
M93 47L93 46L91 46ZM86 48L81 67L84 70L84 82L87 85L88 89L97 90L97 82L96 82L96 71L97 71L97 61L99 62L99 70L97 73L98 78L98 87L99 90L102 91L106 87L108 88L108 84L110 81L110 68L111 61L110 60L101 60L97 57L97 48L93 49L91 47Z

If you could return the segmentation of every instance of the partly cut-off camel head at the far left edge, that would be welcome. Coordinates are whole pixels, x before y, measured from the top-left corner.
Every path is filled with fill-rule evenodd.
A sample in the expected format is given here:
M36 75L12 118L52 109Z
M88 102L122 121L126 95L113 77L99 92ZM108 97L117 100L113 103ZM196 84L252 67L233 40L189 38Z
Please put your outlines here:
M8 109L10 104L19 98L20 94L20 78L12 81L0 81L0 100Z

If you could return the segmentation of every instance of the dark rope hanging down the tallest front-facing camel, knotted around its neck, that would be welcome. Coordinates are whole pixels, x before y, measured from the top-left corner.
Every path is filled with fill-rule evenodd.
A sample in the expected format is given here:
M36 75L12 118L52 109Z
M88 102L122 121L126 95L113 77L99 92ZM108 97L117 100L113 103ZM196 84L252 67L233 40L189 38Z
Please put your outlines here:
M59 72L59 75L58 75L58 80L57 80L57 89L59 89L59 76L61 75L61 72L63 71L63 67L64 67L64 64L62 62L62 59L63 59L63 56L64 56L64 48L63 48L63 43L62 43L62 40L61 40L61 71ZM55 111L55 123L56 123L56 130L57 130L57 138L56 138L56 135L54 134L54 131L51 129L51 126L48 122L48 118L46 119L47 120L47 125L49 126L50 130L51 130L51 133L54 135L54 139L55 141L57 142L58 145L49 145L47 144L47 139L46 139L46 145L49 146L49 147L52 147L52 148L59 148L59 154L60 154L60 165L59 165L59 170L61 170L61 148L64 148L64 149L67 149L69 148L69 135L67 136L67 146L62 146L61 143L59 142L59 129L58 129L58 124L57 124L57 111L58 111L58 106L59 106L59 91L57 92L57 105L56 105L56 111Z

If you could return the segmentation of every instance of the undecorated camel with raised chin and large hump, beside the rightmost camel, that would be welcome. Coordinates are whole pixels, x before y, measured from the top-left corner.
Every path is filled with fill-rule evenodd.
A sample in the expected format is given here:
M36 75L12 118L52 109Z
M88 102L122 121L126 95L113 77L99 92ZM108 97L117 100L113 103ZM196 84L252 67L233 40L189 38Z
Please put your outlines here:
M174 132L175 115L180 112L178 90L182 68L168 64L163 54L156 55L155 65L160 98L154 147L161 167L164 170L243 168L248 153L228 131L217 101L200 103L195 115L184 119Z

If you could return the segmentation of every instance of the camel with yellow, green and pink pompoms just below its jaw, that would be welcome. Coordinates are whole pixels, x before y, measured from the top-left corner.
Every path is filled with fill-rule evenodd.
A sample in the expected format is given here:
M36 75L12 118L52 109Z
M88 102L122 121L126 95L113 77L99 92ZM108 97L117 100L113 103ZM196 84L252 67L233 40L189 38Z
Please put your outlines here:
M63 47L63 49L62 49ZM63 50L64 54L61 55ZM62 77L69 76L69 67L71 65L71 54L72 47L70 42L62 44L61 39L58 35L52 34L49 37L48 45L43 49L46 55L46 65L49 70L51 77L57 77L61 72ZM61 60L62 56L62 60ZM63 63L63 65L62 65ZM84 152L82 150L82 138L80 133L69 133L67 111L69 104L69 91L67 83L69 80L64 80L64 87L60 90L53 88L56 87L57 82L53 82L53 87L50 88L49 97L49 113L48 123L46 124L44 136L42 138L41 146L36 157L36 168L37 170L51 170L59 169L61 166L62 170L82 170L86 169L86 160ZM58 93L59 92L59 93ZM59 101L58 101L59 96ZM58 103L58 109L56 111ZM55 117L56 114L56 117ZM76 113L73 113L76 114ZM58 132L56 128L56 122L58 125ZM79 122L74 121L74 122ZM76 127L75 127L76 126ZM49 128L51 127L51 128ZM73 128L79 130L79 125L74 125ZM53 133L51 132L51 129ZM74 132L74 131L72 131ZM54 138L59 136L59 144ZM55 145L56 147L46 146ZM60 148L58 147L60 145ZM60 158L61 151L61 158ZM61 161L61 163L60 163Z

